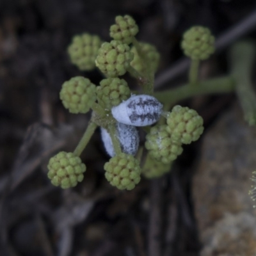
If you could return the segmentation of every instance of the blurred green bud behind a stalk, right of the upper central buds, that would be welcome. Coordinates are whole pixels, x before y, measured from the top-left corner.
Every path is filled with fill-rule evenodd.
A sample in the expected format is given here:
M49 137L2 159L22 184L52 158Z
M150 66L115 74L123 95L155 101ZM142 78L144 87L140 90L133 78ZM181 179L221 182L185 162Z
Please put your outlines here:
M157 68L159 67L160 54L157 51L156 47L151 44L140 42L140 48L142 54L147 59L146 61L141 60L136 48L132 46L131 52L134 53L134 58L131 61L131 66L136 69L139 73L144 73L147 71L147 65L149 65L150 70L153 73L156 73Z

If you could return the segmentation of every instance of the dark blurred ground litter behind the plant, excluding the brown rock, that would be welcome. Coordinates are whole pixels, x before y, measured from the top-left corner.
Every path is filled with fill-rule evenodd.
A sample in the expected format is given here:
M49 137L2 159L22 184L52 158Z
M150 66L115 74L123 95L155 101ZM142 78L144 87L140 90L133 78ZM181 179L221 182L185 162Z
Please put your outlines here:
M138 40L161 53L161 77L183 58L180 39L190 26L208 26L218 38L254 9L253 0L0 0L0 255L199 255L189 189L200 141L184 148L171 174L120 192L104 178L108 156L97 131L81 156L87 171L77 188L62 191L47 179L49 157L74 150L90 119L63 108L61 84L77 75L102 79L97 70L74 67L67 45L83 32L109 41L115 16L129 14L140 27ZM228 44L202 64L202 78L227 72ZM183 83L186 72L171 78L159 89ZM207 128L233 100L196 97L186 104ZM152 241L156 254L148 252Z

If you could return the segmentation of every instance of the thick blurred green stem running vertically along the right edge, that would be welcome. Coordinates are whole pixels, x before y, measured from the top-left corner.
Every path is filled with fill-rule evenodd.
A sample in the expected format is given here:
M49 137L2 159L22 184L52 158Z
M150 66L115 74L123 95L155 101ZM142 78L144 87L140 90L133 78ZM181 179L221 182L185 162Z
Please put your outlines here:
M252 67L255 60L253 42L237 42L230 49L230 73L236 79L236 93L249 125L256 124L256 95L252 88Z

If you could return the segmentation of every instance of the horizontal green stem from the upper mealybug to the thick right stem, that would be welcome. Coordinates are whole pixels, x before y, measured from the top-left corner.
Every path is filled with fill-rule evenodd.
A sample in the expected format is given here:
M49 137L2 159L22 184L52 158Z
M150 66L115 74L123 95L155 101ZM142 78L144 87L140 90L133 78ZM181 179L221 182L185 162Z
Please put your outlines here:
M234 78L231 76L218 77L215 79L202 81L197 86L185 84L177 88L155 92L156 97L163 104L176 104L180 100L188 99L196 95L204 95L209 93L228 93L234 91Z

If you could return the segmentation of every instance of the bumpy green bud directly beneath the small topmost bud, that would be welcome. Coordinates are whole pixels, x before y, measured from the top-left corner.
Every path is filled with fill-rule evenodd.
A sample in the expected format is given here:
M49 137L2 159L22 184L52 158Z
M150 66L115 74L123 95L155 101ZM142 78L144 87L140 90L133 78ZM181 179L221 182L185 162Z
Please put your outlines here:
M125 74L132 59L129 45L112 40L101 45L95 63L106 76L118 77Z

